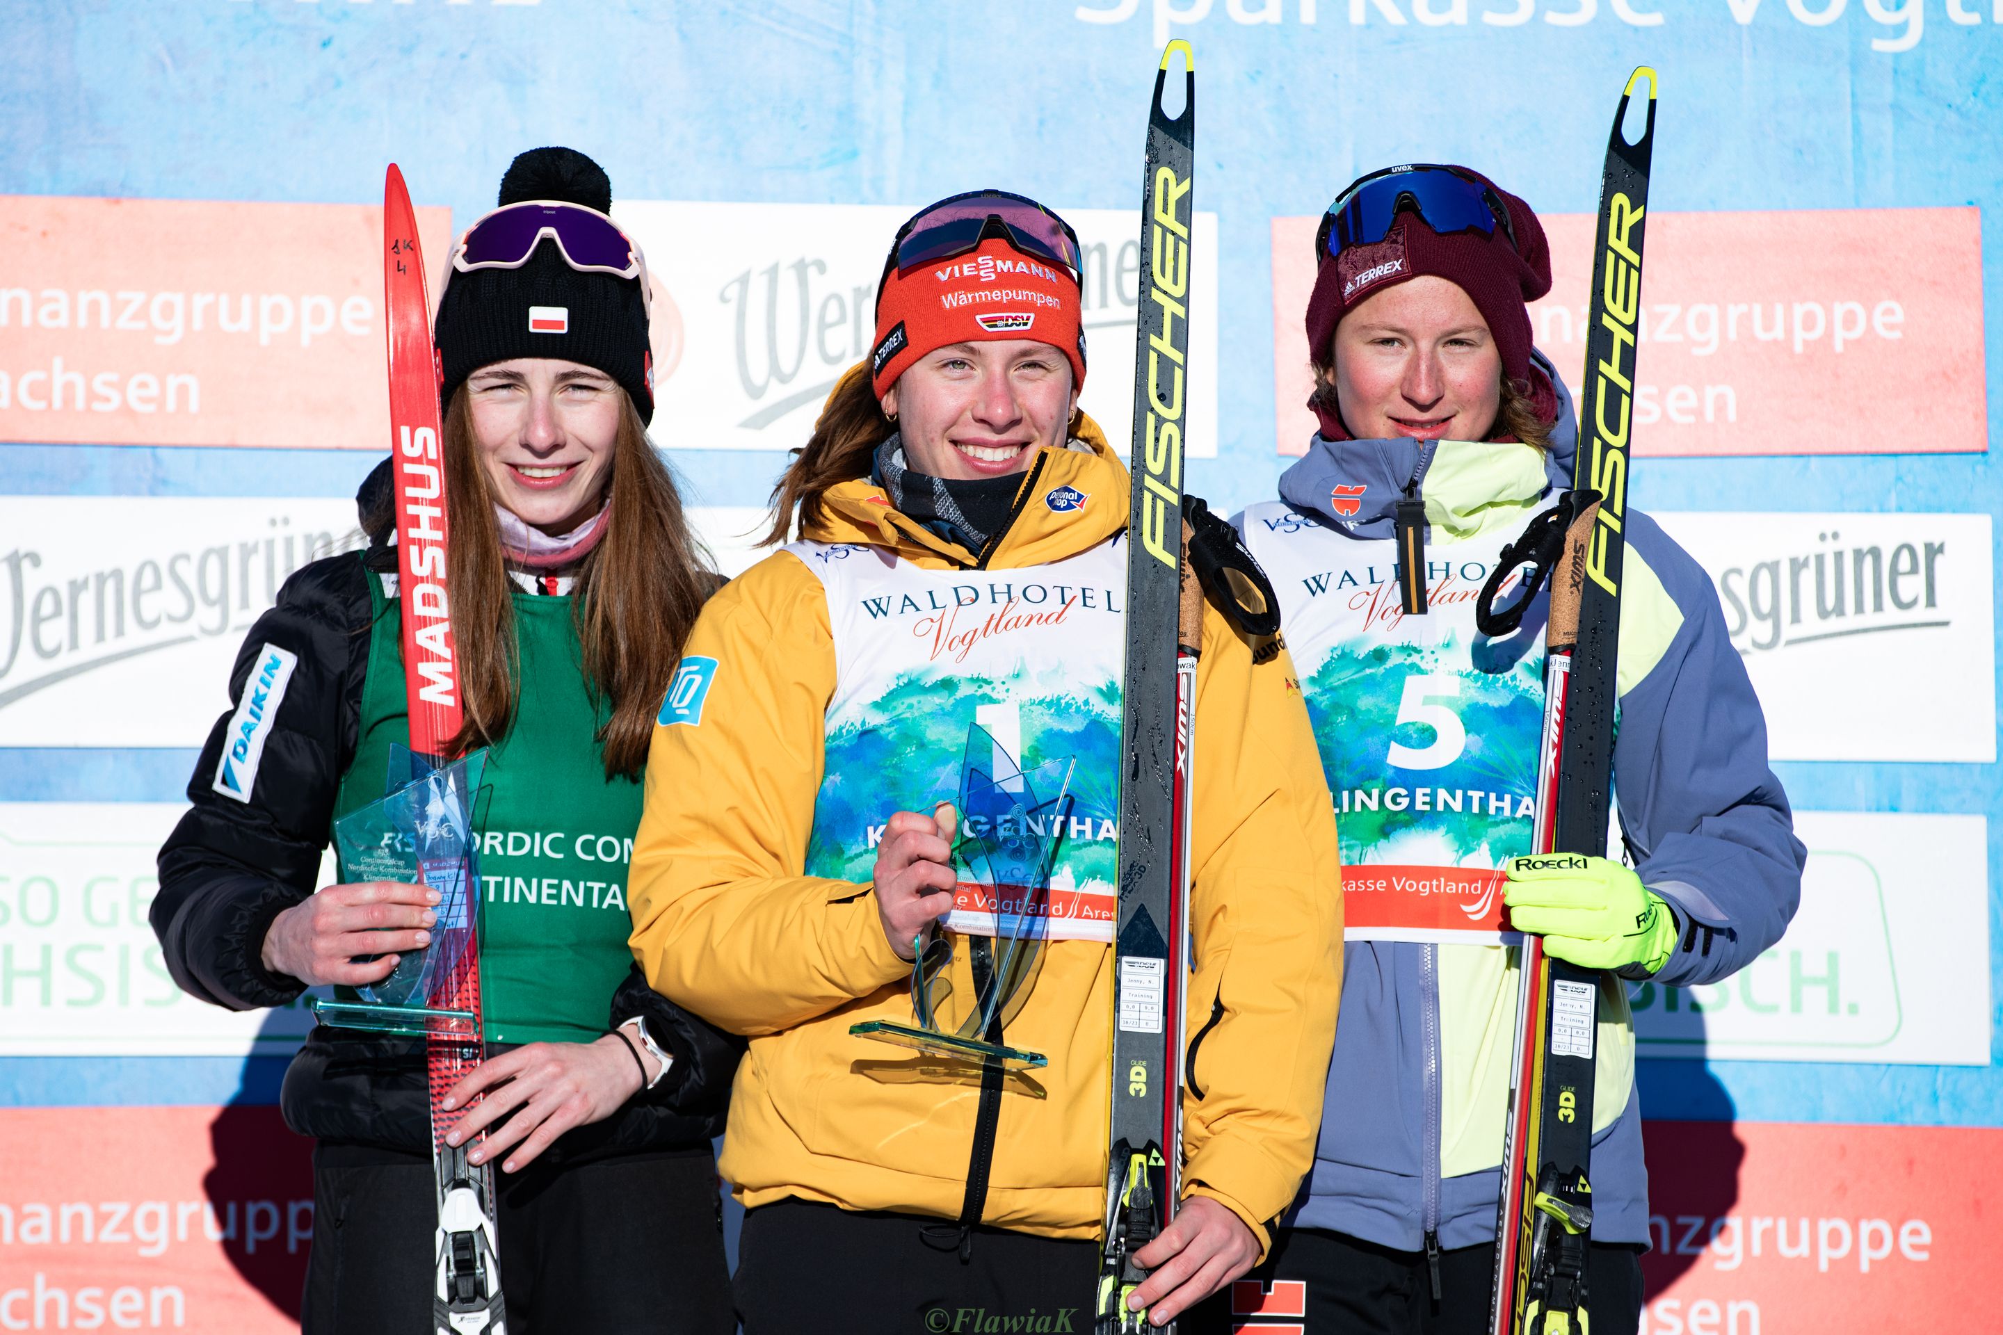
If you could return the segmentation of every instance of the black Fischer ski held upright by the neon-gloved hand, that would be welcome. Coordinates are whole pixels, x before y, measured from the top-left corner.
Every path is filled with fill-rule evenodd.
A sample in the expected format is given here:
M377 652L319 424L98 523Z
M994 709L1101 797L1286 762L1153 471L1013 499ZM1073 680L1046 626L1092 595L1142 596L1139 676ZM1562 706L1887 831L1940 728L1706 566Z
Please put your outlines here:
M1628 100L1642 82L1648 84L1646 124L1640 140L1628 144L1622 138ZM1606 142L1588 292L1586 372L1578 394L1578 460L1568 494L1578 508L1550 580L1532 853L1606 853L1622 520L1654 94L1654 70L1634 70ZM1524 937L1496 1213L1494 1335L1582 1335L1588 1329L1588 1159L1600 977L1544 955L1542 937Z

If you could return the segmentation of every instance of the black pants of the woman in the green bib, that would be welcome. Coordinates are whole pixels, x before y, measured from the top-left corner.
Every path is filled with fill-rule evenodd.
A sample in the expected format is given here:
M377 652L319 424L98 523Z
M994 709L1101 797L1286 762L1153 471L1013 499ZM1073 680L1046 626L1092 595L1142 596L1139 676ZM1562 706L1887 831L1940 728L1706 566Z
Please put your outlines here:
M509 1335L729 1335L723 1211L709 1149L521 1173L495 1167ZM304 1335L431 1329L431 1161L312 1151Z

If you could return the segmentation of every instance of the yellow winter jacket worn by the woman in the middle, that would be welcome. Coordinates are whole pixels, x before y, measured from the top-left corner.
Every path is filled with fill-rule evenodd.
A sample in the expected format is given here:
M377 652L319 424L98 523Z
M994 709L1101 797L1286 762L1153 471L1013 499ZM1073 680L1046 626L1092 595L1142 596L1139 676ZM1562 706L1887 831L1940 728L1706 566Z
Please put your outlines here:
M1126 466L1096 426L1084 434L1094 452L1046 450L1026 476L1124 498ZM831 488L825 508L815 540L975 564L867 480ZM1074 514L1026 504L987 568L1074 556L1124 526L1120 502ZM1216 608L1202 650L1184 1183L1230 1207L1264 1249L1268 1221L1312 1165L1334 1045L1336 827L1286 652L1254 666ZM653 733L629 901L647 981L751 1039L723 1177L747 1207L797 1197L955 1219L979 1071L849 1037L857 1021L911 1021L911 967L891 951L867 883L803 875L835 691L823 586L775 552L709 600L685 652L717 666L699 725ZM983 1223L1090 1239L1106 1195L1112 953L1092 941L1046 951L1008 1037L1050 1065L1006 1085Z

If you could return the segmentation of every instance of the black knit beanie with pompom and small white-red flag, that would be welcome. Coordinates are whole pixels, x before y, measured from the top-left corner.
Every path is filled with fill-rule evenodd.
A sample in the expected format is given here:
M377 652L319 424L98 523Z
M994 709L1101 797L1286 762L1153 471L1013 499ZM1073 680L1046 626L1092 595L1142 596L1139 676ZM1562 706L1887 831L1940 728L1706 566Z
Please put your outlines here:
M575 148L531 148L501 178L497 204L555 200L611 214L613 182ZM531 308L537 310L531 326ZM561 312L561 314L555 314ZM561 326L561 332L547 332ZM435 328L441 394L451 402L481 366L517 356L553 356L603 370L653 420L653 354L639 278L581 274L543 240L521 268L447 272Z

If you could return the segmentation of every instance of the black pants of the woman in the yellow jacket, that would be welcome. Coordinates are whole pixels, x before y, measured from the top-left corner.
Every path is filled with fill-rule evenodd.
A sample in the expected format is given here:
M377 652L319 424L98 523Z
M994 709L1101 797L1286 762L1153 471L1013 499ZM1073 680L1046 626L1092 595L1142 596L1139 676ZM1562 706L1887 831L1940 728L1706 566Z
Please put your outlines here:
M961 1261L925 1227L951 1231L941 1219L807 1201L749 1211L735 1279L745 1335L1092 1331L1098 1243L975 1229Z

